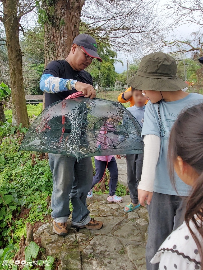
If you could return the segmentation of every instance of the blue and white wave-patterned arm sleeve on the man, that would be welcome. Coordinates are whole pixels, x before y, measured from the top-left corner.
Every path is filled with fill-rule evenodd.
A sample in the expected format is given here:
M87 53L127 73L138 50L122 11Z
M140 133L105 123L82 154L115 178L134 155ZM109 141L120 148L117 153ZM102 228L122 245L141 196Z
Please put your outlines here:
M77 80L62 79L51 74L43 74L40 80L40 89L43 92L55 94L75 89Z

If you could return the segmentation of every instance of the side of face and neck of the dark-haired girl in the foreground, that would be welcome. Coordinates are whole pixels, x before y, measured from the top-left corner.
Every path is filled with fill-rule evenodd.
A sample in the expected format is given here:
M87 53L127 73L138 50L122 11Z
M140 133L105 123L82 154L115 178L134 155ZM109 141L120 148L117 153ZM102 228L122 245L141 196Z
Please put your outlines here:
M181 157L177 157L174 163L174 169L181 180L190 186L195 184L195 181L199 177L198 173L185 161L182 160Z

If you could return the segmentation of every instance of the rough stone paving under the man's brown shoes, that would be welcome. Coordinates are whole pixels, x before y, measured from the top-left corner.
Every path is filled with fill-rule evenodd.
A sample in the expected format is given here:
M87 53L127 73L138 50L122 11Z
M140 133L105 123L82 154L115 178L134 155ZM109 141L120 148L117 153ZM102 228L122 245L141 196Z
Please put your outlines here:
M77 232L69 220L65 237L54 233L53 223L43 224L34 234L41 238L46 255L61 260L59 270L146 270L146 208L125 213L123 208L130 201L129 195L120 204L106 198L107 194L94 194L87 199L90 215L104 223L101 230Z

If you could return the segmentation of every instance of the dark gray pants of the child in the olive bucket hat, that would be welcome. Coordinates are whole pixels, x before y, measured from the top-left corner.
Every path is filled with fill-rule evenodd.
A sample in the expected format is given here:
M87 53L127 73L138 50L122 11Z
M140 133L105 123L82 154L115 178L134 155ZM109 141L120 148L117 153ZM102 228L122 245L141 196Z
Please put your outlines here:
M150 205L147 206L149 213L148 241L146 245L147 270L158 270L159 264L151 264L158 248L166 237L176 230L184 221L185 204L184 198L153 192Z

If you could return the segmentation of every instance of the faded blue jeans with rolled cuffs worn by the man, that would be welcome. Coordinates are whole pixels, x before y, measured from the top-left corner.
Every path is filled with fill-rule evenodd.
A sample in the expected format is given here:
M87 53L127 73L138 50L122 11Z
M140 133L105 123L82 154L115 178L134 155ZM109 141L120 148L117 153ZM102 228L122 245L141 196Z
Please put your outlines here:
M49 165L54 183L51 197L52 218L58 223L66 222L71 214L71 200L71 223L78 226L86 225L91 220L86 204L93 178L91 158L82 158L78 163L74 157L49 153Z

